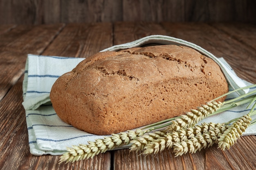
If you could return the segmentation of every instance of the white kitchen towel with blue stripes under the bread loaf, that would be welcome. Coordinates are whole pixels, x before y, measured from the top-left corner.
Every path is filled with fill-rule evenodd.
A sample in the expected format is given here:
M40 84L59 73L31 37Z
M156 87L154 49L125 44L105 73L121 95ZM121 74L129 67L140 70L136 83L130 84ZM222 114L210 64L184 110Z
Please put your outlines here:
M65 152L67 146L71 147L72 145L79 145L81 143L86 144L88 141L94 141L95 139L104 137L103 135L83 132L61 121L49 99L50 90L56 79L62 74L71 71L83 59L84 58L28 55L23 81L24 101L22 105L26 112L31 154L60 155ZM235 79L239 80L236 84L241 87L251 85L251 83L240 80L223 58L215 59L218 60L218 63L221 63L220 67L222 67L222 69L225 67L225 69L228 68L232 72L227 78L231 75L234 80L235 76ZM230 90L233 88L234 86L230 86ZM251 91L254 89L255 88L248 90ZM232 93L227 96L227 100L236 96L238 96L237 93ZM249 108L246 109L246 106L242 105L224 113L210 116L204 119L204 121L215 123L227 122L236 117L243 116L248 112ZM256 118L254 117L253 119ZM250 126L244 133L244 135L251 134L256 134L256 125Z

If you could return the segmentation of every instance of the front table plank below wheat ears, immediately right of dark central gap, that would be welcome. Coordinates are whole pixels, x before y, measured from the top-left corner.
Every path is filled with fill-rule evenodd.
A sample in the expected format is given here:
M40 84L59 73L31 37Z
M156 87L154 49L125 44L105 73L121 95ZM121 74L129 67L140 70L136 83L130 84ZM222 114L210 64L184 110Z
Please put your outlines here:
M184 170L193 169L194 160L189 154L174 158L171 150L164 150L156 155L140 155L141 152L130 152L128 149L117 150L114 157L114 170ZM202 153L201 153L202 154ZM203 165L204 157L198 167ZM198 160L199 161L199 160Z

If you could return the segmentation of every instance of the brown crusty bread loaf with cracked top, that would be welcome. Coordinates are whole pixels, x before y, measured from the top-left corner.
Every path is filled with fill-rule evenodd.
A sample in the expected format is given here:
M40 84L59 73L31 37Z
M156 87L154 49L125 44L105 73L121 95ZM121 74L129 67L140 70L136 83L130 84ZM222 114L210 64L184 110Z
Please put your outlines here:
M101 135L184 114L226 92L213 60L189 47L158 45L90 56L57 79L50 98L64 122Z

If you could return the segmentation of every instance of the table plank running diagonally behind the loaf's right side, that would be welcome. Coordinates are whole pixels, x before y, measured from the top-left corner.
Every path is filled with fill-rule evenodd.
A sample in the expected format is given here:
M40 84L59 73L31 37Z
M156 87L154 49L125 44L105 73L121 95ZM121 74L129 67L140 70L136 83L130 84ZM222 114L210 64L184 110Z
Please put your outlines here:
M256 72L252 72L256 70L255 50L251 47L205 23L173 25L170 22L162 22L162 25L168 31L169 36L193 42L216 57L225 58L240 78L256 83ZM252 39L251 43L256 42Z

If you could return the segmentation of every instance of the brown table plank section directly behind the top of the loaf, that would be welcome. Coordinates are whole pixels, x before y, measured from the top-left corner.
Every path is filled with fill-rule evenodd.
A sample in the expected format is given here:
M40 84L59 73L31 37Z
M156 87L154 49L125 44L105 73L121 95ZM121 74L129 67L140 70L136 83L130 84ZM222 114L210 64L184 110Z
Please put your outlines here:
M114 45L156 34L167 35L168 33L154 22L115 22Z

